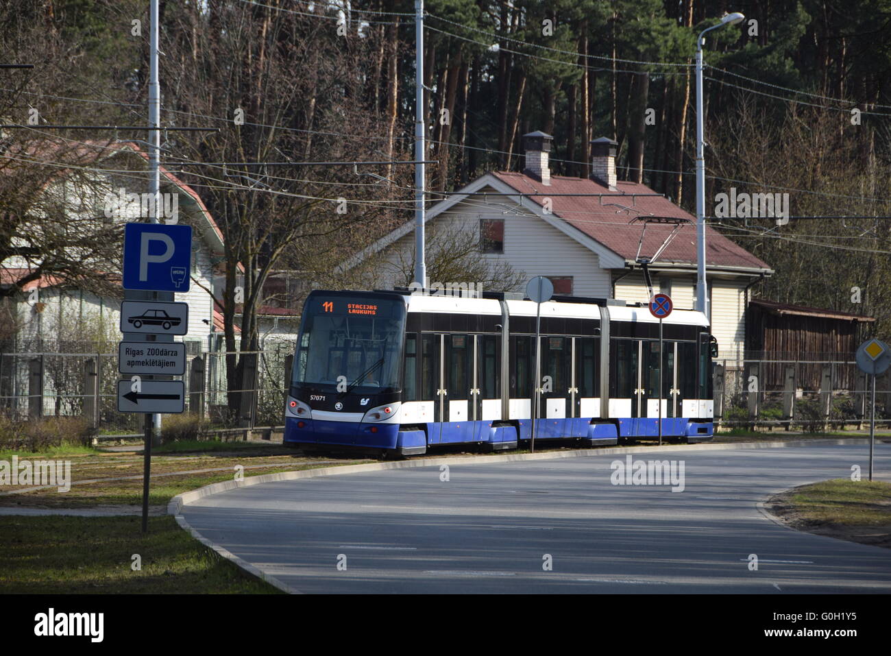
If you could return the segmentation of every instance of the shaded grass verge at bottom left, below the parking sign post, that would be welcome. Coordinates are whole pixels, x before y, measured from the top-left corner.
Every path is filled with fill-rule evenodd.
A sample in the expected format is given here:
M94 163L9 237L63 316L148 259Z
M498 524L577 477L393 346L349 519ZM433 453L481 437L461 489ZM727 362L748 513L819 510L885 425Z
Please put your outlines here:
M0 594L278 594L170 516L0 517ZM131 569L138 553L142 570Z

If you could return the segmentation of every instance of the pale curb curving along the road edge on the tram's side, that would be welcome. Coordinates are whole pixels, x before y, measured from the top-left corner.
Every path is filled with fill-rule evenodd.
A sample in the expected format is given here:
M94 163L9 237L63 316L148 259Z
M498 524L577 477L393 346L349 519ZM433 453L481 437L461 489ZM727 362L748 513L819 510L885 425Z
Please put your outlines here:
M487 464L487 463L511 463L529 460L558 460L560 458L577 458L587 455L624 455L634 453L659 453L662 451L678 451L678 450L695 450L695 451L728 451L732 449L756 449L756 448L781 448L781 447L807 447L813 446L816 440L813 439L797 439L787 441L773 442L745 442L742 444L721 443L721 444L698 444L698 445L669 445L662 447L613 447L613 448L587 448L577 449L574 451L547 452L541 454L501 454L501 455L479 455L476 457L456 458L454 456L422 458L418 460L406 460L396 463L365 463L341 465L338 467L319 467L318 469L308 469L302 471L281 471L275 474L263 474L262 476L251 476L244 480L226 480L222 483L211 483L203 488L198 488L190 492L174 496L168 503L168 514L173 515L176 523L188 531L189 534L198 540L202 545L208 546L224 558L234 562L247 570L257 578L266 581L270 585L289 594L302 594L297 589L288 586L277 578L271 577L264 571L259 570L254 565L245 561L241 557L228 551L224 547L208 540L202 536L196 529L192 528L188 521L181 514L184 505L192 504L205 496L211 496L225 492L230 489L247 488L251 485L260 485L262 483L271 483L277 480L299 480L312 479L316 476L338 476L341 474L359 473L363 471L386 471L391 469L414 469L417 467L431 467L437 464ZM820 446L838 447L846 444L862 446L869 444L870 440L866 439L821 439ZM760 503L759 503L760 506ZM765 512L759 507L759 510L770 516L769 512ZM778 520L771 517L773 521ZM789 527L786 527L789 528Z

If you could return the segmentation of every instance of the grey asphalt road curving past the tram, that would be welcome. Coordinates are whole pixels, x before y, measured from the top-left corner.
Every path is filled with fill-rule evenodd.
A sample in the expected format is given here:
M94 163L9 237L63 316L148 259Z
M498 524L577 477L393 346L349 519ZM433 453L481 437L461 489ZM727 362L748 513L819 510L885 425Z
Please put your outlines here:
M447 481L438 466L279 481L182 513L303 593L888 593L891 551L787 529L756 506L845 478L852 464L865 479L868 455L819 445L632 455L683 460L680 492L613 485L610 463L624 455L455 462ZM876 471L891 472L891 445L877 443Z

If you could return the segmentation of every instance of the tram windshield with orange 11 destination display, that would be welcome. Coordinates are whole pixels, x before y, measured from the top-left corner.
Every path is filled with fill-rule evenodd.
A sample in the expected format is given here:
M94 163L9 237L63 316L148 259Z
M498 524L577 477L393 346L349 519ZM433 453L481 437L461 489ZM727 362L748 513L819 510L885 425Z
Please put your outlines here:
M291 384L345 382L359 394L399 389L404 334L399 300L314 295L304 310Z

